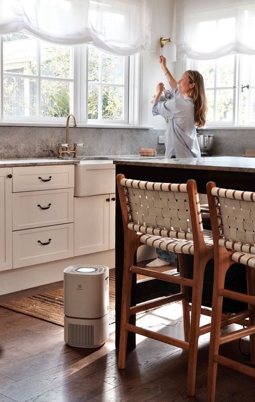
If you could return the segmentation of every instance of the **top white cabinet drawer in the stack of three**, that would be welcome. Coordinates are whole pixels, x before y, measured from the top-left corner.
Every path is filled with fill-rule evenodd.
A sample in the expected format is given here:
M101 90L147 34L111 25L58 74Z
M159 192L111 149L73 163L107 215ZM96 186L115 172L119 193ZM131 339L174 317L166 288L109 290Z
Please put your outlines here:
M74 187L74 165L40 165L13 168L13 193L69 187Z

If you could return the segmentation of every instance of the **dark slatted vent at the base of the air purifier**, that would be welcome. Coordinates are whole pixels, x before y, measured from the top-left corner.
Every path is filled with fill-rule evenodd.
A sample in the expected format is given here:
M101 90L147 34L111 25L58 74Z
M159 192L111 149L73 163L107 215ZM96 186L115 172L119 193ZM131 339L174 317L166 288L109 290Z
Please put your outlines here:
M68 324L68 343L76 346L94 345L94 325Z

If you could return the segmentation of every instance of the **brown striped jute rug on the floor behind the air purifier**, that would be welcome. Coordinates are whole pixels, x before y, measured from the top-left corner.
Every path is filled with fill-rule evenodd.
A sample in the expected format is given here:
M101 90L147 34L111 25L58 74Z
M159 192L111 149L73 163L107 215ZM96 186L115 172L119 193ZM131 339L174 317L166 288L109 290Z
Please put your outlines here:
M1 303L1 307L64 326L64 290L56 289L35 296ZM115 277L109 278L109 324L115 322Z

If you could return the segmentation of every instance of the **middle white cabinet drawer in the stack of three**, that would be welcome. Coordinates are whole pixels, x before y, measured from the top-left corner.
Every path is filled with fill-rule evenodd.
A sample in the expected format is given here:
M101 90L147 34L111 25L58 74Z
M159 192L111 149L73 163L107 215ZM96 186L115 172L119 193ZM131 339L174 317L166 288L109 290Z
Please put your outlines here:
M73 222L73 188L14 193L13 230Z

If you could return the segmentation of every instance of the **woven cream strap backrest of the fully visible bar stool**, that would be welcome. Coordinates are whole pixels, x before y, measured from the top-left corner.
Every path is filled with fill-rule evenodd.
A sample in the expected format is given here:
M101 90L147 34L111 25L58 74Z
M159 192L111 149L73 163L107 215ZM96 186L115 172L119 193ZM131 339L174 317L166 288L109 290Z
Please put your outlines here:
M187 240L193 240L194 226L202 233L195 180L175 184L132 180L118 175L117 183L120 200L121 193L125 197L129 229Z

